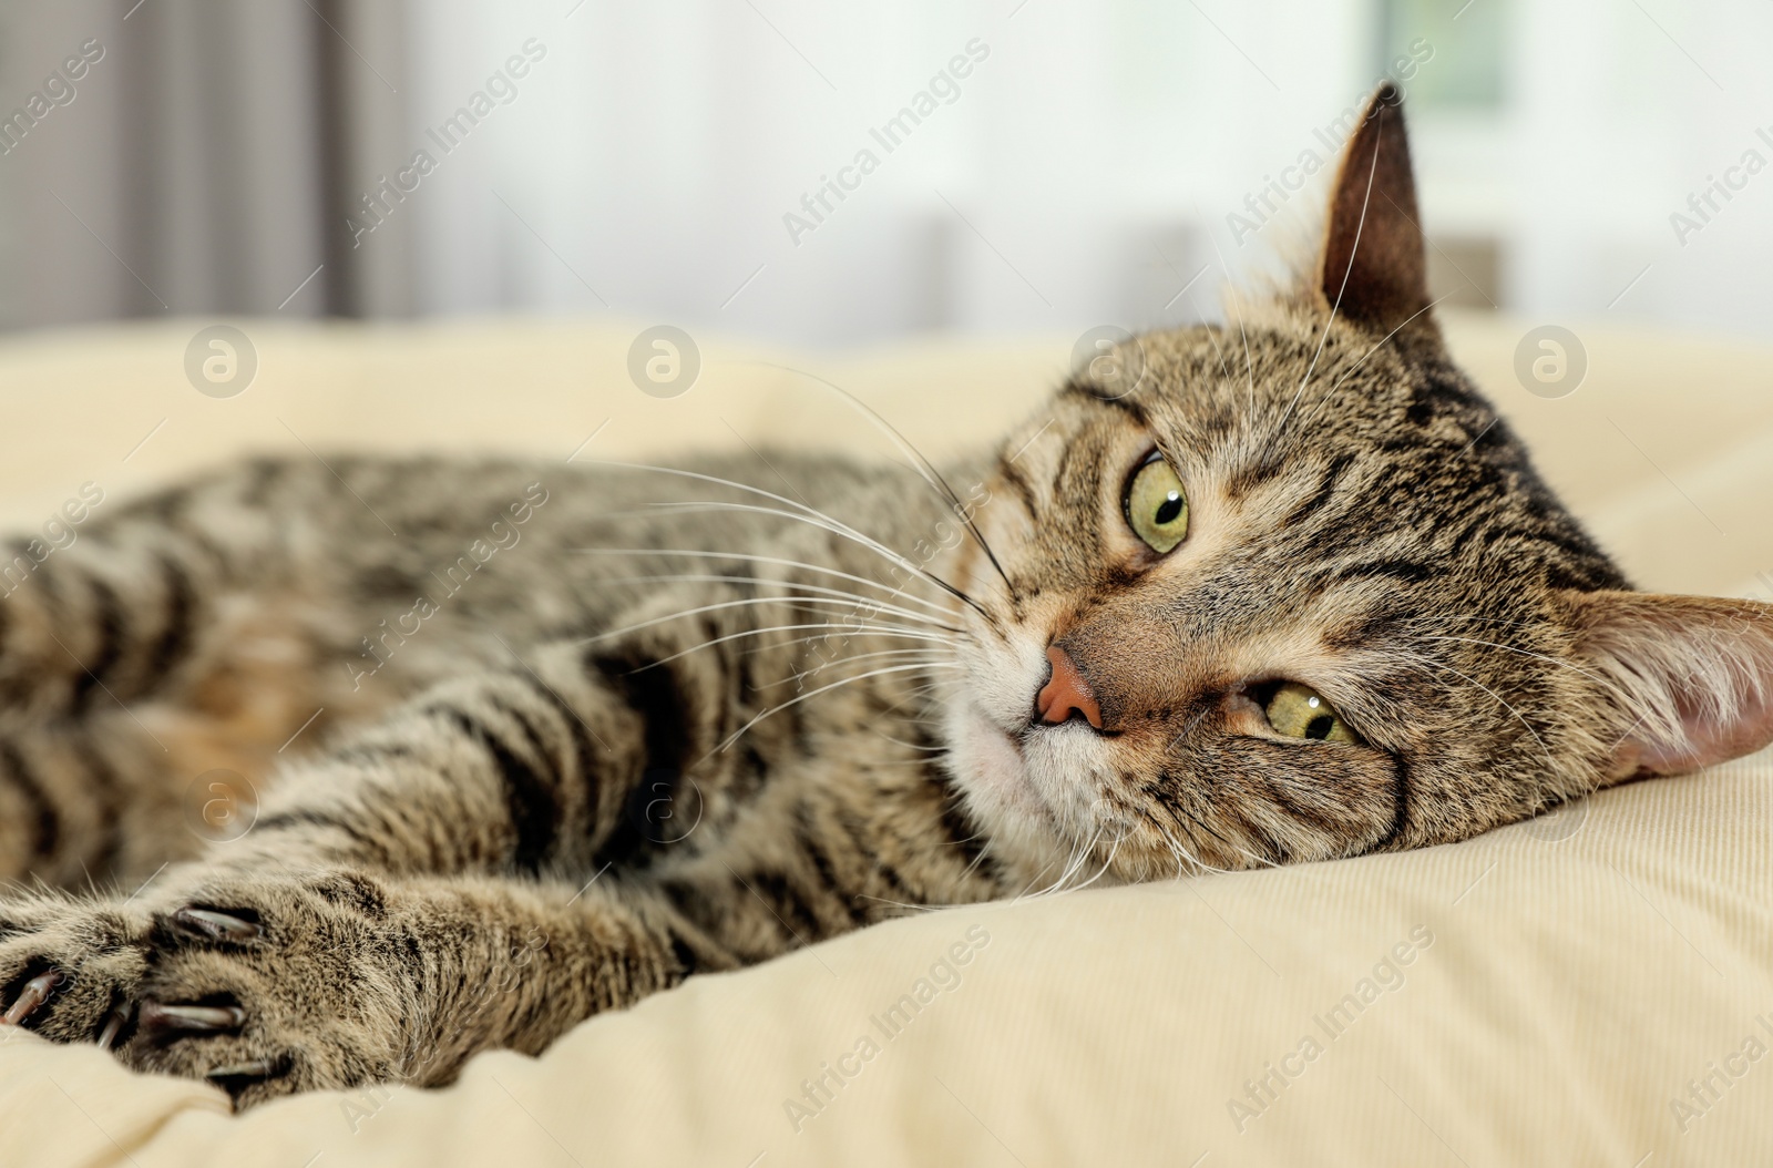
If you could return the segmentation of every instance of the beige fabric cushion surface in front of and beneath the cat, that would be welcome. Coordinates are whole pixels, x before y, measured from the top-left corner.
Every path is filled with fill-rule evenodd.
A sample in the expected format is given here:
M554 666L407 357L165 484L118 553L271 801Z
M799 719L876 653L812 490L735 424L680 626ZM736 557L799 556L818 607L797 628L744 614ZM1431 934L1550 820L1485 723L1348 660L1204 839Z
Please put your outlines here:
M443 1092L230 1118L207 1086L20 1035L0 1147L138 1168L1764 1163L1769 783L1762 755L1452 847L918 915L693 978L539 1060L482 1055Z

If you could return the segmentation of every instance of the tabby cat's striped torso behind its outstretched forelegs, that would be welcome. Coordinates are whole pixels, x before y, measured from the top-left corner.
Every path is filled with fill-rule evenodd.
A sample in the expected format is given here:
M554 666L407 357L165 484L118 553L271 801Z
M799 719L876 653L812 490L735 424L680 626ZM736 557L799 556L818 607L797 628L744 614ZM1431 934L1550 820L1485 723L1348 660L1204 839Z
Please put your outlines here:
M769 464L886 546L927 537L926 546L940 542L941 557L952 555L957 525L911 470L789 452L771 452ZM238 812L216 805L216 822L204 821L209 792L199 783L206 798L193 806L191 780L220 767L266 789L277 762L310 755L340 727L374 723L450 679L527 675L534 654L553 647L576 650L603 677L599 716L637 705L660 741L622 751L624 766L644 753L651 775L628 806L605 799L583 838L573 838L574 828L589 822L555 822L571 817L566 803L582 792L523 812L558 845L521 844L519 867L564 865L589 877L617 856L628 867L656 861L663 842L676 861L725 831L762 771L787 787L800 769L830 775L833 764L878 762L904 778L915 762L926 780L934 727L918 693L926 679L910 670L785 705L720 748L771 707L871 661L904 661L876 654L931 659L929 638L945 636L933 622L952 620L927 601L927 585L897 585L876 551L807 523L793 500L711 482L755 479L759 468L739 457L658 470L255 459L89 521L39 571L34 583L44 587L12 601L27 620L53 620L55 636L34 638L37 652L28 654L27 629L5 659L32 702L0 746L18 757L0 773L5 876L78 886L90 874L133 886L165 860L200 853L206 837L229 835L229 815L252 817L254 831L277 828L275 812L250 803ZM135 562L151 564L145 580ZM879 583L844 578L869 574ZM906 569L897 574L913 580ZM32 599L57 608L34 613ZM700 608L709 611L606 636ZM888 620L917 638L872 631ZM704 645L722 636L730 640ZM684 656L640 668L677 652ZM62 711L87 728L85 751L43 743L71 730L59 725ZM567 728L592 737L599 760L615 750L615 732L590 718ZM975 854L968 849L968 860ZM902 900L906 890L892 879L855 892ZM940 899L924 881L913 895Z

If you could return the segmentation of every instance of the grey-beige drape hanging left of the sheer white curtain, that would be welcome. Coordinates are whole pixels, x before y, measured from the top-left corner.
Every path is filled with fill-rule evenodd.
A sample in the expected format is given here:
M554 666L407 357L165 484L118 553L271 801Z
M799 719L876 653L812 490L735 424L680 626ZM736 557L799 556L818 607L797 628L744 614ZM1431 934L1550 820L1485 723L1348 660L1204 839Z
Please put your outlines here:
M371 0L9 0L0 323L410 308L404 257L340 246L406 43Z

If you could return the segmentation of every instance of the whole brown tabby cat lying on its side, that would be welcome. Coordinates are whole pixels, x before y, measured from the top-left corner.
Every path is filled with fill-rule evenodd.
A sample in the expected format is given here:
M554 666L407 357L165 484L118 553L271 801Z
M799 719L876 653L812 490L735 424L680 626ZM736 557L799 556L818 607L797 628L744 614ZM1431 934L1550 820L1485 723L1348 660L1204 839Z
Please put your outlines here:
M1395 89L1296 289L1115 356L941 473L257 459L90 518L0 604L4 1021L238 1108L441 1085L911 907L1773 739L1773 611L1629 590L1452 365ZM273 769L199 849L191 776Z

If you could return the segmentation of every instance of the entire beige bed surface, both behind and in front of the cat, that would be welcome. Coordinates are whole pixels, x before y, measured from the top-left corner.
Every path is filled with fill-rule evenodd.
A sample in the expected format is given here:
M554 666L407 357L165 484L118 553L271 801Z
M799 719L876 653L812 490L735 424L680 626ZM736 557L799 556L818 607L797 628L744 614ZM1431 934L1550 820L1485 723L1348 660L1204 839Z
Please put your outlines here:
M257 369L197 392L211 321L0 344L0 518L124 498L245 450L886 445L933 457L1032 411L1074 337L794 353L697 335L672 397L649 321L236 321ZM1576 326L1449 342L1640 587L1773 599L1773 349ZM215 386L211 386L215 388ZM908 1005L910 1003L910 1005ZM1773 1147L1773 755L1418 853L918 913L596 1017L447 1090L222 1092L92 1047L0 1042L5 1164L1764 1163Z

